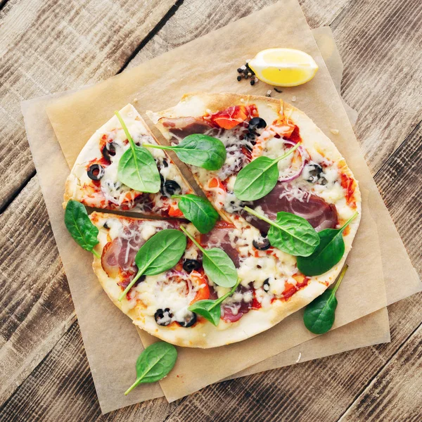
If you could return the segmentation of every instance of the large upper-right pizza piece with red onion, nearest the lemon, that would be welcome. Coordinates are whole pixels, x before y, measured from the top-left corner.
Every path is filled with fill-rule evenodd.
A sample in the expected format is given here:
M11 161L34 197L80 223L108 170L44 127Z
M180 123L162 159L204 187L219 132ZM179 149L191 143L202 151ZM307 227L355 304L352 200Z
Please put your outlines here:
M217 171L191 166L196 181L220 215L234 222L247 219L265 236L269 224L245 212L245 205L267 219L277 212L304 217L316 229L343 225L361 210L357 181L333 142L305 113L281 100L240 94L188 94L173 108L147 112L165 138L177 144L189 134L207 134L226 146L227 158ZM277 158L300 146L277 164L279 178L257 200L236 196L236 179L256 158ZM248 170L245 169L245 174ZM359 218L345 231L350 249Z

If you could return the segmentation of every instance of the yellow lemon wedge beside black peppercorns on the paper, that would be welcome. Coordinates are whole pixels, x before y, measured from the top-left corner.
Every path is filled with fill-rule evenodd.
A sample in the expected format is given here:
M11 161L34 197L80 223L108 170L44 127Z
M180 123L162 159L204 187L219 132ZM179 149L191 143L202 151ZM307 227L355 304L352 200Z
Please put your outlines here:
M258 79L276 87L305 84L318 70L309 54L294 49L262 50L248 64Z

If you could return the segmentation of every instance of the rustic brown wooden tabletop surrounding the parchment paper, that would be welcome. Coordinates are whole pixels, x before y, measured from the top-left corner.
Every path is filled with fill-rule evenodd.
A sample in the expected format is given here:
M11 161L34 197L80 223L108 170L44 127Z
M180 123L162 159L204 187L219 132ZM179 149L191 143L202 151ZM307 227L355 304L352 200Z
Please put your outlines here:
M389 344L101 415L19 102L98 82L273 2L0 0L1 421L421 420L422 295L389 307ZM358 139L421 274L422 2L300 3L311 27L334 32Z

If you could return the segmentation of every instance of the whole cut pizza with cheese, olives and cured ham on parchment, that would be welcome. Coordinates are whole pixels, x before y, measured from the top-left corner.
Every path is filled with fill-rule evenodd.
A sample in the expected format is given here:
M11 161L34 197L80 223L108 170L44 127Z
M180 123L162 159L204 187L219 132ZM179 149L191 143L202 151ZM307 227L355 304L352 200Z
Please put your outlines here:
M142 143L143 136L148 136L148 143L153 142L151 132L132 106L122 109L121 113L134 140ZM340 273L352 248L359 226L361 196L345 159L314 122L283 101L239 94L189 94L174 108L147 114L174 145L193 134L212 136L224 144L226 160L218 170L190 166L221 219L212 230L201 234L194 224L184 219L167 218L172 215L167 208L172 199L162 198L160 194L153 196L159 196L155 207L149 206L147 210L165 217L162 219L93 212L89 218L98 229L99 241L95 246L94 255L98 257L94 257L93 267L110 300L136 326L168 343L207 348L261 333L324 293ZM117 120L110 122L95 135L92 147L84 148L95 151L95 155L82 150L81 159L77 161L79 167L77 170L74 167L70 180L76 177L75 174L87 172L90 160L98 160L94 156L98 157L98 151L101 151L103 132L109 134L108 130L117 130L118 136L113 134L115 137L110 140L115 142L118 138L122 146L126 145ZM278 177L274 188L257 199L238 199L236 179L241 177L242 170L248 171L247 166L258 158L280 156L285 158L276 163ZM167 165L174 168L172 179L181 186L181 197L190 193L183 177L164 153L155 156L160 173L160 160L166 160ZM79 191L84 189L83 184L77 186L82 186ZM98 196L103 195L102 185L95 192L101 192ZM127 205L115 208L113 203L98 206L89 201L95 196L77 198L98 208L129 210ZM146 210L142 200L135 200L131 209L138 207ZM255 214L248 212L248 208ZM339 229L345 222L350 222L340 232L345 244L340 261L323 274L302 273L298 269L297 256L283 252L269 242L269 223L281 211L303 217L314 233ZM262 215L264 219L256 215ZM183 217L181 212L177 217ZM174 267L158 275L141 276L132 286L139 271L136 253L165 229L187 234L186 250ZM238 282L232 290L207 276L204 254L209 248L223 250L236 267ZM222 303L217 324L189 309L202 300L218 301L219 298Z

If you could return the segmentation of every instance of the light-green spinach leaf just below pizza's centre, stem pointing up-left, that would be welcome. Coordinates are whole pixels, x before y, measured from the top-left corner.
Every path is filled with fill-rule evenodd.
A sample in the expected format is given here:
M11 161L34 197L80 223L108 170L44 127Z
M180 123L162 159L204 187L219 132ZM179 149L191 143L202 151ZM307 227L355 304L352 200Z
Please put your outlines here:
M203 252L203 267L207 277L217 286L232 287L238 279L237 270L233 261L224 250L211 248L205 250L193 236L188 233L184 226L180 226L181 231L195 243L197 248Z

